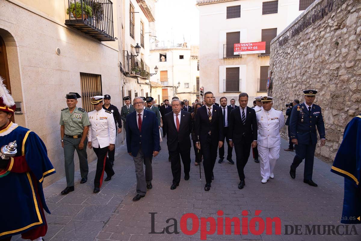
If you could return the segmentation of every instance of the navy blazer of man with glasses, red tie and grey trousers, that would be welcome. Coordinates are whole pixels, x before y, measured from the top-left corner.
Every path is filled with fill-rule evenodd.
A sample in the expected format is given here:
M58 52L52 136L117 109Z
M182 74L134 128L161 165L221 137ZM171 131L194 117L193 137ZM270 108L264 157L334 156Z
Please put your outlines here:
M153 111L145 109L142 120L142 131L139 132L138 124L136 122L137 114L138 112L134 111L128 114L126 118L128 153L131 153L132 156L136 156L142 145L144 156L152 156L153 151L159 151L160 149L157 116Z

